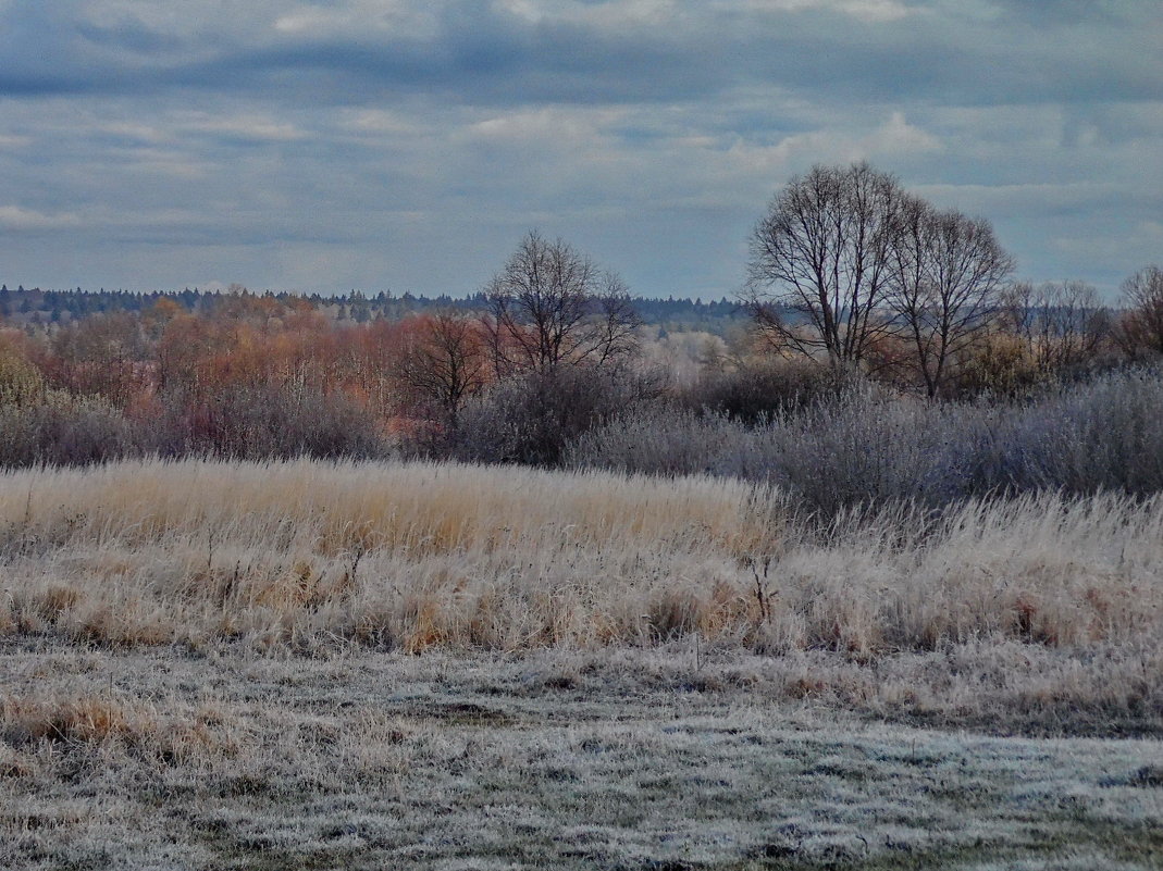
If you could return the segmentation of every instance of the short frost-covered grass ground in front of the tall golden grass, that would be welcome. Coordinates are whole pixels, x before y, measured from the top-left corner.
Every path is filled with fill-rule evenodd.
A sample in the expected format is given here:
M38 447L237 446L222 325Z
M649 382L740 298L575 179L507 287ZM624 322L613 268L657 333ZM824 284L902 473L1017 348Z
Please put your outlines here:
M1163 866L1157 741L886 724L779 667L9 641L0 866Z

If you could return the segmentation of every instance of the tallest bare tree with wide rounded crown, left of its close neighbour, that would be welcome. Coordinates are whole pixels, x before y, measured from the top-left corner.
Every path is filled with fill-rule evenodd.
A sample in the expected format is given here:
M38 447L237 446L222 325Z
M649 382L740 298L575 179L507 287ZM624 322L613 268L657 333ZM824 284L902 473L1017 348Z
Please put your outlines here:
M751 234L743 302L780 351L859 364L893 324L882 304L904 192L866 163L816 166Z

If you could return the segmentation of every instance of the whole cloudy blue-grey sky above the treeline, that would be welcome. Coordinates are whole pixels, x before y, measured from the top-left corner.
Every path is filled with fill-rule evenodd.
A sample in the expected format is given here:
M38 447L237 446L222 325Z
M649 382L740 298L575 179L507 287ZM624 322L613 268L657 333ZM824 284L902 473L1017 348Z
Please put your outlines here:
M463 295L538 229L730 295L814 164L1035 281L1163 264L1160 0L0 0L0 280Z

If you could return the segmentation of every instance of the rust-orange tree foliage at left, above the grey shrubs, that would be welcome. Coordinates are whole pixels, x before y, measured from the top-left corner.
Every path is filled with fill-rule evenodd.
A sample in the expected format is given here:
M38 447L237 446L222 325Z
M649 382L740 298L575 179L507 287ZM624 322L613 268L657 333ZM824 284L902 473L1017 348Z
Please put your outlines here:
M343 397L385 431L408 431L434 407L455 413L486 380L476 319L358 323L329 312L302 297L230 293L193 312L163 297L140 314L93 315L35 340L12 330L9 343L49 386L102 398L136 420L165 409L200 419L229 391L273 390Z

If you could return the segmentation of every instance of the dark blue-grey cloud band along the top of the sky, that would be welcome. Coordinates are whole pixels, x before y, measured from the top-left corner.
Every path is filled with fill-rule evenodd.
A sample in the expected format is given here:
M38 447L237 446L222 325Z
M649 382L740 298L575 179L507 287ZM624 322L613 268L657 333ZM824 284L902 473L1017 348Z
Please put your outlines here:
M889 91L978 103L1157 95L1158 8L1141 5L1130 23L1113 12L1086 16L1079 3L1027 7L335 0L288 9L252 0L207 17L160 0L16 2L0 12L0 87L26 95L202 90L328 105L401 94L476 105L634 102L747 83L829 99ZM1047 28L1054 38L1040 35Z

